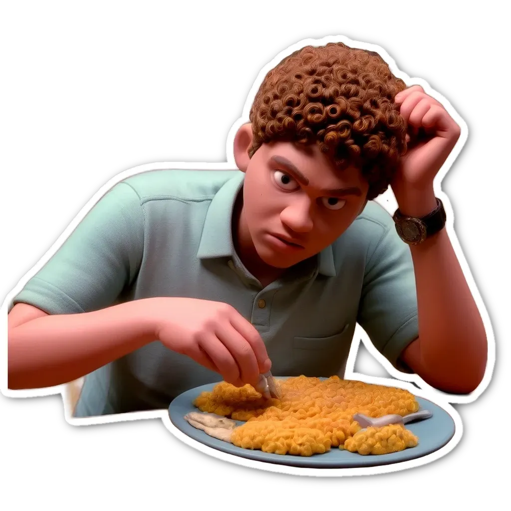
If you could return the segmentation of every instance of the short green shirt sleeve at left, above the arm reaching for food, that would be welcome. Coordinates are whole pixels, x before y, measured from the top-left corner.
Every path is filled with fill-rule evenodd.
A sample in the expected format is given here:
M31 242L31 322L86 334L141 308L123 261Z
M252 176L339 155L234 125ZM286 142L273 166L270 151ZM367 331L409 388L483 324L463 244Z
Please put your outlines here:
M13 299L49 314L108 307L134 280L144 247L140 198L121 182L107 192Z

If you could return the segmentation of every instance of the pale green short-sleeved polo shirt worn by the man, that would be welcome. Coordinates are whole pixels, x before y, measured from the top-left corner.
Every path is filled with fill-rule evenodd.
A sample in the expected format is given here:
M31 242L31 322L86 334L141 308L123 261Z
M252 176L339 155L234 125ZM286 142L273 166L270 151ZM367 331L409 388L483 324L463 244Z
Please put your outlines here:
M263 289L233 247L231 217L243 180L230 170L125 179L14 303L69 314L156 296L222 301L259 331L272 373L285 376L342 378L358 322L399 367L418 335L417 298L410 250L390 215L368 202L332 246ZM87 375L75 415L167 408L181 392L220 380L155 341Z

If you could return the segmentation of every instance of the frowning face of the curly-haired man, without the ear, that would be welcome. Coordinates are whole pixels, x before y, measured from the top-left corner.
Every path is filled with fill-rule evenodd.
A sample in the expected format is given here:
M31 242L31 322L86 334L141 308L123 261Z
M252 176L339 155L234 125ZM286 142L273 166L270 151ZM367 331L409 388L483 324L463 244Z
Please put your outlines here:
M359 171L337 170L317 144L264 144L242 170L241 242L271 267L289 268L319 253L365 204L368 185Z

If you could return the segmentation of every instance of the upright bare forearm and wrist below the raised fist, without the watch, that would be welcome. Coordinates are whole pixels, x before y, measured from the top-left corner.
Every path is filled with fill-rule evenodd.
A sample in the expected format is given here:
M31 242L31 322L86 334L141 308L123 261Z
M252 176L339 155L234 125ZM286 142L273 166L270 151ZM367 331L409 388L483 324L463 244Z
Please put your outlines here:
M436 205L433 191L403 199L403 213L422 216ZM431 202L433 201L433 207ZM428 383L447 391L469 392L481 382L487 340L481 316L444 228L410 246L419 309L420 367Z

